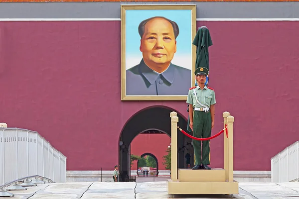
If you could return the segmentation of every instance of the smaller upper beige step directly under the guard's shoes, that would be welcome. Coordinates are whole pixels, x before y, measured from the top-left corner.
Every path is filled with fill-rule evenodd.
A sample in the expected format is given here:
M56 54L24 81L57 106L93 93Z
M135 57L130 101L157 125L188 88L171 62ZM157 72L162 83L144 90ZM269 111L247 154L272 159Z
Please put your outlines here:
M178 169L179 182L225 182L224 169Z

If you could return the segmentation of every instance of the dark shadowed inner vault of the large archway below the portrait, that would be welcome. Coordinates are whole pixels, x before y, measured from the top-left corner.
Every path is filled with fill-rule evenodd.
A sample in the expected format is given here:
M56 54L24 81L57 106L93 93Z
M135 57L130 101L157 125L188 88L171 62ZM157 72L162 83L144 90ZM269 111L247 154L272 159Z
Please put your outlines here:
M119 172L120 181L126 176L131 176L130 144L132 140L141 132L147 129L158 129L171 136L170 112L176 111L166 106L152 106L140 110L133 115L123 128L120 136L119 147ZM178 113L178 111L176 111ZM178 126L187 128L187 119L178 113ZM191 139L182 133L177 134L177 157L178 168L186 168L185 155L190 154L191 166L194 165L194 151ZM188 148L189 147L189 148ZM193 164L192 164L193 163Z

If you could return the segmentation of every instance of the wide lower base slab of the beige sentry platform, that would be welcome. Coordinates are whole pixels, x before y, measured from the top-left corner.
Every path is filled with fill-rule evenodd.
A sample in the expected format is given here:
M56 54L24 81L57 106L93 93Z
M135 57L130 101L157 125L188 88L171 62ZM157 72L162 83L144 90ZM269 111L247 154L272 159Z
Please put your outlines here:
M172 182L167 180L168 194L239 194L234 182Z

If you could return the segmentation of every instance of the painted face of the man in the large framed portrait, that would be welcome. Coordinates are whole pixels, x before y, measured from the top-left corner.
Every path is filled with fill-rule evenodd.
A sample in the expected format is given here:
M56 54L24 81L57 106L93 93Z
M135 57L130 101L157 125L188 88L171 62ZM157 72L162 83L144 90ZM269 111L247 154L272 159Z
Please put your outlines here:
M154 18L146 23L140 51L146 63L170 64L176 52L173 27L163 18Z

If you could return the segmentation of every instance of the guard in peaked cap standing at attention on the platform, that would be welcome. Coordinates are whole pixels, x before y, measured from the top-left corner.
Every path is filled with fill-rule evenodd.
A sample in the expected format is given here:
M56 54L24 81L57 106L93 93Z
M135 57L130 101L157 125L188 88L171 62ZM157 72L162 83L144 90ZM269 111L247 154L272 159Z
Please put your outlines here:
M209 71L205 67L199 67L195 70L197 86L189 89L187 103L189 103L189 127L193 131L193 136L197 138L211 137L211 131L214 127L215 116L215 92L214 89L205 85L206 76ZM195 169L208 169L210 164L210 140L193 140L195 153Z

